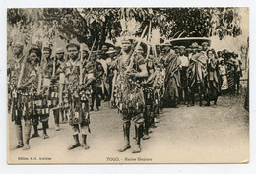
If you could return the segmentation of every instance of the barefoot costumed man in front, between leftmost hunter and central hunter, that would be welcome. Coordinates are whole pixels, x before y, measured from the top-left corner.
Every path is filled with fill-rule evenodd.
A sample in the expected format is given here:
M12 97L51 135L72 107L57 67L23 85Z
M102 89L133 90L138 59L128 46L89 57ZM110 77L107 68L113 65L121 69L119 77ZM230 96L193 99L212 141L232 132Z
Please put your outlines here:
M70 109L69 124L72 127L74 139L74 144L68 149L71 150L79 146L89 149L89 145L87 145L87 135L90 132L89 95L87 94L88 85L85 82L83 62L80 57L82 55L79 54L80 45L69 43L66 49L69 61L65 66L65 85L68 90ZM79 142L79 133L82 135L82 145Z

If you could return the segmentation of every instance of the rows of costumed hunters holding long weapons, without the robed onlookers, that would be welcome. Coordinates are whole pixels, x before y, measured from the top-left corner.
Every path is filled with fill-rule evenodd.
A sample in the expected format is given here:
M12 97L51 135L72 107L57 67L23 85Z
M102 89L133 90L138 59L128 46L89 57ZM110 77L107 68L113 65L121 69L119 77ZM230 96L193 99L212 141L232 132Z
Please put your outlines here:
M141 46L133 49L134 41L124 39L117 56L114 47L105 45L100 51L90 51L87 45L71 41L66 50L56 48L54 54L50 46L13 41L7 75L9 111L18 139L14 148L30 149L30 139L39 137L39 122L42 137L49 138L52 112L56 131L60 123L68 122L72 127L74 144L68 149L88 149L90 111L95 102L99 110L103 99L123 115L126 142L119 151L130 148L130 122L134 120L137 146L133 152L140 152L140 140L149 139L149 128L154 127L160 112L164 73L160 62L146 56Z

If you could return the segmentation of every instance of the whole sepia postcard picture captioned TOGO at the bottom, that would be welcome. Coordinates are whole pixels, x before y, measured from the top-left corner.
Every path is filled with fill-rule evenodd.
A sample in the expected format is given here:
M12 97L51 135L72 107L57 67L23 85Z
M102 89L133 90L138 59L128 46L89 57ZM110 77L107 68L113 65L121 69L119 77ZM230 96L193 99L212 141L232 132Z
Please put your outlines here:
M8 164L249 163L249 7L6 13Z

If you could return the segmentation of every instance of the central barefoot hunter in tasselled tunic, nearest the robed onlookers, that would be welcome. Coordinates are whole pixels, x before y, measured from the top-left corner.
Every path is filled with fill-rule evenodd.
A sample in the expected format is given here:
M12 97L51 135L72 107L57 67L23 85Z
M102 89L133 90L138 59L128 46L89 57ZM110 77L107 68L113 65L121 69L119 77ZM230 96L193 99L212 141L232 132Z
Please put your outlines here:
M140 84L148 76L148 72L143 57L133 54L132 41L127 38L122 40L122 54L117 58L116 70L114 71L114 82L118 82L117 106L122 114L125 141L118 151L123 152L131 148L130 126L131 121L134 121L136 146L132 152L139 153L141 152L144 124L143 108L145 107L143 88Z

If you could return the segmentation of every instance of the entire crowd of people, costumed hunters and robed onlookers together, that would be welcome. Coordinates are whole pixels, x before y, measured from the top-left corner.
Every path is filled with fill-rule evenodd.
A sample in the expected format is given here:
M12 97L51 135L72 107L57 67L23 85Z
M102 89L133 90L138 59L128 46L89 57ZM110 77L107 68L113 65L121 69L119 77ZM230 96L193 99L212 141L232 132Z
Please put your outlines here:
M50 112L56 131L60 131L60 123L71 125L74 144L68 149L89 149L90 113L105 101L122 115L124 145L119 151L131 148L133 121L133 153L138 153L141 140L149 139L150 129L156 128L163 107L194 106L197 100L200 106L203 102L210 106L211 101L216 105L221 94L239 92L238 55L226 50L216 54L208 42L170 46L159 55L140 39L128 36L123 36L121 49L106 45L89 49L84 43L70 41L65 48L37 43L25 50L19 39L11 49L8 103L18 139L15 149L30 149L30 139L39 137L39 122L43 138L49 138Z

